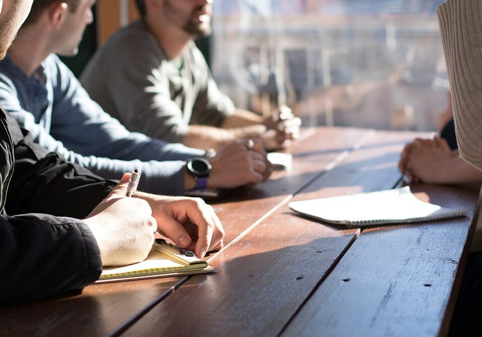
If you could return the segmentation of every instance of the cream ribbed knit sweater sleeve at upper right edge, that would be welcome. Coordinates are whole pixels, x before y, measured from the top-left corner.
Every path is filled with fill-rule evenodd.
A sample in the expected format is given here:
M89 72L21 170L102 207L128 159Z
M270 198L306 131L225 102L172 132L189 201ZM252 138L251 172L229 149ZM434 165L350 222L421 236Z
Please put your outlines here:
M447 0L437 14L460 155L482 170L482 0Z

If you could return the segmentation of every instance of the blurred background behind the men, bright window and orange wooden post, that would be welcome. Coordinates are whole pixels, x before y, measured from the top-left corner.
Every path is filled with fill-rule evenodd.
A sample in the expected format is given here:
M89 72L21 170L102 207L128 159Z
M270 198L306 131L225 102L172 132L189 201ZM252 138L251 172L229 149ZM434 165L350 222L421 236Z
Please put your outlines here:
M448 79L436 10L443 0L214 0L197 41L240 108L289 105L304 125L436 130ZM102 0L76 74L98 44L137 18L132 0Z

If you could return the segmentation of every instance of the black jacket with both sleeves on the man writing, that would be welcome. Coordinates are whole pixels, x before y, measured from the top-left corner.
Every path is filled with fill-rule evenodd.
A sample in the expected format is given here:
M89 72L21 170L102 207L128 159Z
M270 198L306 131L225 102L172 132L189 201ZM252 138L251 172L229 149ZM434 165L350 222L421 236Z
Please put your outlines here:
M99 248L78 219L86 217L115 182L47 153L2 111L0 182L5 206L0 215L0 306L80 289L97 280Z

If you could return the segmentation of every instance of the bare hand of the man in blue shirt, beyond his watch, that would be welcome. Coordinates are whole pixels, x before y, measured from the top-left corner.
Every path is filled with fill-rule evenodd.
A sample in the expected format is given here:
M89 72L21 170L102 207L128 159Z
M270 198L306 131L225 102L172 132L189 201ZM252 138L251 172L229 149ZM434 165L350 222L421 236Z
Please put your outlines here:
M253 147L248 148L248 140L239 140L222 148L210 159L209 187L232 188L254 185L266 180L272 171L260 140L253 139Z

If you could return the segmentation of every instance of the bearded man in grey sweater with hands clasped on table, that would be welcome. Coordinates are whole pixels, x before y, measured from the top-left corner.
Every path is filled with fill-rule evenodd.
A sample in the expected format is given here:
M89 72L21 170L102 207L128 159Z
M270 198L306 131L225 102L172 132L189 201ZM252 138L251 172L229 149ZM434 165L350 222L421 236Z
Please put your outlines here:
M201 149L261 138L267 150L299 133L289 109L235 109L193 39L211 32L212 0L137 0L142 20L118 31L87 65L91 97L133 131Z

